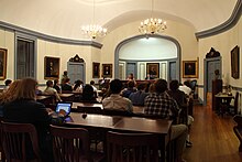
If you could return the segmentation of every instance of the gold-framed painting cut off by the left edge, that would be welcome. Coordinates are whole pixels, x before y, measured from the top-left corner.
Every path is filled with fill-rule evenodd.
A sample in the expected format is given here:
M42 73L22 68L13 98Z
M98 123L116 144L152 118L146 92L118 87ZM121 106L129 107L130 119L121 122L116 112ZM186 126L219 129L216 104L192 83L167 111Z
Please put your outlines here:
M0 48L0 79L6 79L7 74L7 48Z

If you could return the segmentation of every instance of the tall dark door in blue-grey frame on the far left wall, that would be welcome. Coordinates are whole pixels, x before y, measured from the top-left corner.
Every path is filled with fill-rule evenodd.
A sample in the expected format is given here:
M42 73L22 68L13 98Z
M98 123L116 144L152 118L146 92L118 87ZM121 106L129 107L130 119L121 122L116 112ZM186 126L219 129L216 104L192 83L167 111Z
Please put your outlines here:
M34 77L34 41L16 37L16 79Z

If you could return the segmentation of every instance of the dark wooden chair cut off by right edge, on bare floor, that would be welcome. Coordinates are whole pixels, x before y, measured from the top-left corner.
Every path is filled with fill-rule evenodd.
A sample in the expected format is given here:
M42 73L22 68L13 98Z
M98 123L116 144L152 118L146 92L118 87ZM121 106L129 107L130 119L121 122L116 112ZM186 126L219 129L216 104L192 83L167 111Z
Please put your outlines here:
M239 152L242 152L242 116L235 115L233 120L237 122L237 126L233 127L233 131L240 140Z

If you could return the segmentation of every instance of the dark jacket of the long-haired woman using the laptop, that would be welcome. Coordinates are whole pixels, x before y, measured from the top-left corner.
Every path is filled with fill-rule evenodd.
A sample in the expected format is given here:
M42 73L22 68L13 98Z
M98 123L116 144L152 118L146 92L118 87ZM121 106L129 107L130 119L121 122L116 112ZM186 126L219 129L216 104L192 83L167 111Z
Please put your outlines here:
M3 121L32 123L35 126L43 161L53 161L50 123L62 122L64 118L52 118L45 106L35 100L15 100L3 106ZM31 150L28 153L31 158Z

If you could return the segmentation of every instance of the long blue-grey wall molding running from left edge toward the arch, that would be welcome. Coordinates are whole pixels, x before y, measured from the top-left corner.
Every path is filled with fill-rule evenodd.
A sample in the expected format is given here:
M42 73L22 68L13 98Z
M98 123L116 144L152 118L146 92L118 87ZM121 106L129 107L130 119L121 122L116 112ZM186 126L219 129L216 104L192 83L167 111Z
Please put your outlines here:
M55 43L72 44L72 45L87 45L87 46L94 46L97 48L102 47L101 43L98 43L95 41L79 41L79 40L70 40L70 39L52 36L52 35L47 35L47 34L43 34L43 33L40 33L36 31L28 30L28 29L24 29L24 28L14 25L14 24L2 22L2 21L0 21L0 28L3 30L9 30L12 32L28 34L28 35L35 36L35 37L44 40L44 41L50 41L50 42L55 42Z

